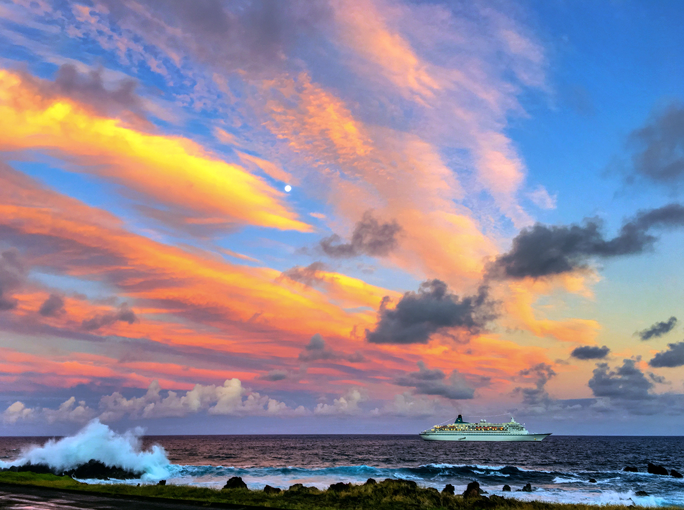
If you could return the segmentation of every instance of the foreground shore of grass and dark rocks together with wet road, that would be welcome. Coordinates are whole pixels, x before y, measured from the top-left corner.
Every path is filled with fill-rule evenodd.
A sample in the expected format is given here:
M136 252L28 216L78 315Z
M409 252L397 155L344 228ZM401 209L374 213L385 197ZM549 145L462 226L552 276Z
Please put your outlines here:
M337 483L326 490L304 487L295 484L289 489L277 492L250 490L247 488L210 489L189 485L130 485L130 484L89 484L79 482L70 476L35 474L33 472L1 472L0 492L16 495L31 495L38 500L50 500L60 495L60 500L74 500L81 508L150 508L150 509L196 509L213 507L245 510L456 510L456 509L516 509L516 510L593 510L601 507L607 510L624 510L631 505L594 505L589 503L560 503L540 500L525 501L497 495L478 495L465 497L432 487L419 487L415 482L386 479L377 482L369 480L363 485ZM447 488L449 486L447 485ZM453 487L451 487L453 491ZM4 499L4 498L3 498ZM114 503L111 500L116 500ZM81 506L78 502L90 506ZM94 506L93 506L94 505ZM107 506L109 505L109 506ZM0 508L6 507L0 505ZM72 506L73 507L73 506ZM57 506L59 508L59 506ZM662 509L681 509L682 507L657 507Z

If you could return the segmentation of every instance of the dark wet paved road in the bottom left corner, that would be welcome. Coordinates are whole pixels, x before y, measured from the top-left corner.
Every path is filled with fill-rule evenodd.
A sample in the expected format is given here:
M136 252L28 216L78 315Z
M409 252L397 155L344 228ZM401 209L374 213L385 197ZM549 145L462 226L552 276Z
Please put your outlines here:
M241 505L211 505L213 508L233 510L257 510L261 507L244 507ZM183 502L167 502L155 498L130 499L94 496L79 492L62 492L42 487L16 487L0 485L1 510L198 510L202 505ZM265 510L265 509L264 509ZM269 509L274 510L274 509Z

